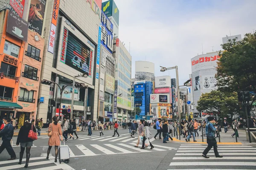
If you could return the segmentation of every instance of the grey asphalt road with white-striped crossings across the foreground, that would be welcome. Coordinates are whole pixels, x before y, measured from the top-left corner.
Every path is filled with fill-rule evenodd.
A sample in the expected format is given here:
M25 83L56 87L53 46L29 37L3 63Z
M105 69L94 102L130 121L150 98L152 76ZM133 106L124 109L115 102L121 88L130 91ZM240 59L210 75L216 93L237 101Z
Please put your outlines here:
M154 139L156 130L151 129L151 141L154 149L146 148L141 150L135 148L138 135L131 138L129 130L119 129L120 136L112 137L113 130L103 131L104 136L100 137L98 131L93 131L92 136L87 132L79 132L79 139L69 140L66 145L70 147L70 162L54 162L54 149L52 148L50 160L47 161L48 136L40 136L34 141L31 148L31 159L27 169L32 170L178 170L178 169L246 169L255 170L256 147L242 145L218 146L219 159L213 155L213 150L208 154L209 159L201 157L206 147L203 144L189 144L186 142L168 142ZM17 136L14 136L13 143L16 143ZM63 142L62 142L63 144ZM4 150L0 154L0 170L15 169L22 170L25 164L18 165L20 147L14 147L17 155L16 160L6 161L9 154Z

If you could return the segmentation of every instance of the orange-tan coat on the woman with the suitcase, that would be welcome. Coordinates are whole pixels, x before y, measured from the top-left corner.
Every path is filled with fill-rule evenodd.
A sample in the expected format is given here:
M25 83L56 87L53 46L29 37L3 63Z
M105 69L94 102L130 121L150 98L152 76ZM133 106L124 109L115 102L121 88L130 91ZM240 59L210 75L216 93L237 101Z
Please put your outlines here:
M48 145L49 146L59 146L60 145L60 135L62 135L61 125L57 123L51 123L49 125L49 130L52 130L52 136L49 137Z

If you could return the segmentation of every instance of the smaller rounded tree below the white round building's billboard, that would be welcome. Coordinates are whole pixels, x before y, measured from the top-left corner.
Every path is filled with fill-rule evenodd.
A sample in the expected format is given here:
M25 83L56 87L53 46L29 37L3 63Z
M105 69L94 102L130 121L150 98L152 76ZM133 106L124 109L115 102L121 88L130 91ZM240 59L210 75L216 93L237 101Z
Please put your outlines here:
M202 94L196 109L199 112L220 114L222 117L233 117L240 112L236 94L213 90Z

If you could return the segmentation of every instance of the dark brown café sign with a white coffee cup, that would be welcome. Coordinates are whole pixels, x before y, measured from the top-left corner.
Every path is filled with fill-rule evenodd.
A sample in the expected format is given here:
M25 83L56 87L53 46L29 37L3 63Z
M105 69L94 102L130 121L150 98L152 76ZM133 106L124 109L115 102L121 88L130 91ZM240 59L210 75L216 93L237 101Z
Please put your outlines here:
M27 42L29 23L9 11L6 31L18 39Z

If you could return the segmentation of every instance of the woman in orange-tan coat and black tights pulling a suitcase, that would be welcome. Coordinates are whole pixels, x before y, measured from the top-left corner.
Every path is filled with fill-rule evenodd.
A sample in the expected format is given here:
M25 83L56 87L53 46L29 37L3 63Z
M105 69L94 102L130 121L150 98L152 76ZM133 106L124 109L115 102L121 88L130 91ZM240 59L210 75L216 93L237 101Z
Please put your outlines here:
M48 130L48 136L49 136L49 141L48 141L48 150L47 150L47 157L46 159L49 159L49 154L52 149L52 146L55 146L55 162L57 162L57 156L58 156L58 146L60 146L60 136L61 140L62 138L62 131L61 131L61 125L58 123L58 118L57 116L52 117L52 123L49 125L49 130Z

